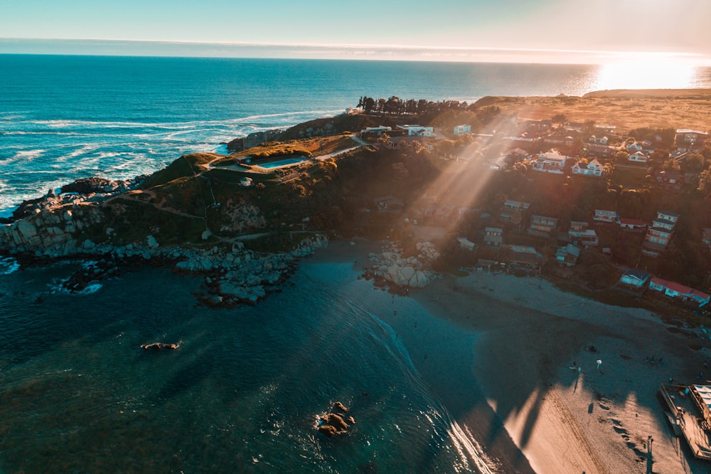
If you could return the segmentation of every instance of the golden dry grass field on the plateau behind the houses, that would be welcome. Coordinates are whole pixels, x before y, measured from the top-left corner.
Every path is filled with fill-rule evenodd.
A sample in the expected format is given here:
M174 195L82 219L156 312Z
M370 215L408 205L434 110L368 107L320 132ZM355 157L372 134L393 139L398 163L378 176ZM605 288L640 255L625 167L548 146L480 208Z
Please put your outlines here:
M636 127L711 129L711 89L600 90L582 97L496 97L504 113L520 118L550 119L565 114L570 122L594 120L626 131Z

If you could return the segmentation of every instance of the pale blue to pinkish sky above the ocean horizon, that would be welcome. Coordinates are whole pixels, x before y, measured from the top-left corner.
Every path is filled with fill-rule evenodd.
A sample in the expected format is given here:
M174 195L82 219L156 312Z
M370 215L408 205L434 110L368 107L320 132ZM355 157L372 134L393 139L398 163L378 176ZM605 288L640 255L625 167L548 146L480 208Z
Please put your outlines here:
M709 18L708 0L0 0L2 38L124 41L6 39L0 53L707 63Z

